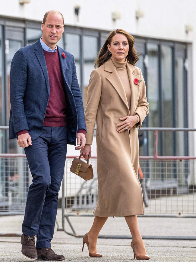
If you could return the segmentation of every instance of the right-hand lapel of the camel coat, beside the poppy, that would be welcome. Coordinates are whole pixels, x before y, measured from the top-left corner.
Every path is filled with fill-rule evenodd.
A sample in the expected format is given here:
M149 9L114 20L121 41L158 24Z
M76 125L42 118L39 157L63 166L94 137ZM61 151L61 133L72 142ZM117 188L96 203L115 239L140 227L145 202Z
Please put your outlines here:
M140 76L134 73L135 67L130 63L127 63L127 73L129 77L129 82L131 86L131 107L130 107L130 115L133 115L137 106L138 96L140 95L140 84L139 86L134 84L134 79L138 78L140 80Z

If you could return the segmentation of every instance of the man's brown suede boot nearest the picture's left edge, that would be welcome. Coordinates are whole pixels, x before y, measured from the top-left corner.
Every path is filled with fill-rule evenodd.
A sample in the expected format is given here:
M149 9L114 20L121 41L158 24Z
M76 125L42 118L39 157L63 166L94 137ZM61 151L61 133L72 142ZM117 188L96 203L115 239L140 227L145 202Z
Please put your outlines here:
M21 235L22 254L28 258L37 259L37 250L35 247L35 236Z

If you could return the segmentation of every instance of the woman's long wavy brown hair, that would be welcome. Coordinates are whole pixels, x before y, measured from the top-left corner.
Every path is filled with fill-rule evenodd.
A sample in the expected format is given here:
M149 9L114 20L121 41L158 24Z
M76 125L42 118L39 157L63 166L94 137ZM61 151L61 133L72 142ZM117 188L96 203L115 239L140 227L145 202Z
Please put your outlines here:
M135 65L135 63L138 61L139 57L138 54L135 51L134 48L134 37L130 34L128 34L125 30L123 29L116 29L113 30L112 32L110 32L109 36L107 37L103 47L101 48L101 50L98 53L98 57L95 63L95 67L100 67L102 66L104 63L106 63L107 60L110 59L111 55L109 55L109 50L108 50L108 44L111 44L112 41L112 37L115 34L124 34L125 37L127 37L128 43L129 43L129 51L128 51L128 55L127 55L127 61L129 63L131 63L131 65Z

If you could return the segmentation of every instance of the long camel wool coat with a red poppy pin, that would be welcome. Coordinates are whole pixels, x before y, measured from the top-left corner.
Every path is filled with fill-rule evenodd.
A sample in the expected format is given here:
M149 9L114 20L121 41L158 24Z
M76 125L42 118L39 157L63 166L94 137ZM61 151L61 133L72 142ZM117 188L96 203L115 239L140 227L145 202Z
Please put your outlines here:
M86 140L93 142L96 121L98 201L93 214L100 217L143 215L144 204L138 180L138 129L148 114L146 86L141 69L127 62L131 85L131 108L111 59L94 69L87 92ZM134 79L142 80L138 85ZM127 115L139 116L131 130L118 133L115 125Z

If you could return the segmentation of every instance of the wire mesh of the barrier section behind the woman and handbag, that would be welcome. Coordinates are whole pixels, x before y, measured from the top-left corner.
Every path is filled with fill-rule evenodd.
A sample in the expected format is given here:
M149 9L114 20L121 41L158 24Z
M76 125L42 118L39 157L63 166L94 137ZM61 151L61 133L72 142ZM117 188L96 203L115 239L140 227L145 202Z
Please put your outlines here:
M98 197L96 158L90 159L94 178L84 181L69 171L72 159L65 167L65 209L67 213L92 213ZM195 160L141 159L140 180L145 214L194 214L196 192L192 186ZM63 194L64 195L64 194ZM131 201L131 200L130 200Z

